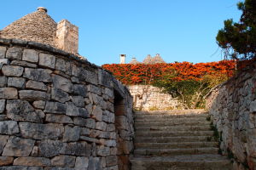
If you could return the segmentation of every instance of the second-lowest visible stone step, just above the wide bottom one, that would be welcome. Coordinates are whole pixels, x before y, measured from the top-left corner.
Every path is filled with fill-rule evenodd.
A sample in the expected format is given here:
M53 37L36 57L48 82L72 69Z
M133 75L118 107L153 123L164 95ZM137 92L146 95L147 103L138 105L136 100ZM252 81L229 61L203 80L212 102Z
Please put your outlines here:
M177 149L137 149L135 156L177 156L177 155L198 155L218 154L217 147L207 148L177 148Z

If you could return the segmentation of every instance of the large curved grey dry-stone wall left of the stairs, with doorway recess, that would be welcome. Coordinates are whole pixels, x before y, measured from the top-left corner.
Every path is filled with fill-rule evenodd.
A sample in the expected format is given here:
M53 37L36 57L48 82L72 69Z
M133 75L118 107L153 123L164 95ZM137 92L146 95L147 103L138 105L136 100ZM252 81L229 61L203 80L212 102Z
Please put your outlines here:
M131 94L86 59L0 39L0 169L129 169Z

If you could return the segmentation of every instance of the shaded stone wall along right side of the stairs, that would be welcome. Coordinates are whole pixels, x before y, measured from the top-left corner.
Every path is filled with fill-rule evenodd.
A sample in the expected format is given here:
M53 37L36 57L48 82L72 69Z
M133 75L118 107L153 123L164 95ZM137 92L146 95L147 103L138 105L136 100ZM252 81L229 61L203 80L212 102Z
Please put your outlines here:
M220 147L234 169L256 168L256 69L247 68L207 96L207 108L220 134Z

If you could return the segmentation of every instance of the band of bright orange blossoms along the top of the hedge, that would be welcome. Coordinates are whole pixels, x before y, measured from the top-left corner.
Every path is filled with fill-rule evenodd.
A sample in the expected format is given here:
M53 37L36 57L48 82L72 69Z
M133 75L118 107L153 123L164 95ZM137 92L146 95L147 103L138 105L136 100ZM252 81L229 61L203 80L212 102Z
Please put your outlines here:
M170 63L170 64L112 64L102 67L113 73L124 84L153 84L155 81L166 79L166 74L175 71L176 81L195 80L201 81L205 75L225 75L232 77L235 70L234 60L223 60L209 63Z

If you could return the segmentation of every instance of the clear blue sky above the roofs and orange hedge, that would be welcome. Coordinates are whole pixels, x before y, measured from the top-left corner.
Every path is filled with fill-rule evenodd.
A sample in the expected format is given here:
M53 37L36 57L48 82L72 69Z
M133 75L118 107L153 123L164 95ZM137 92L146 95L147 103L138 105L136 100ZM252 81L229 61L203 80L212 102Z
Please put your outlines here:
M56 21L79 26L79 54L96 65L119 63L119 54L143 61L160 54L168 63L222 59L215 37L223 21L239 20L238 0L13 0L1 2L0 29L48 9ZM217 51L218 50L218 51Z

